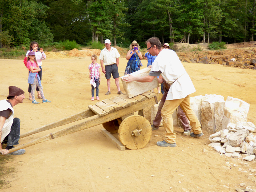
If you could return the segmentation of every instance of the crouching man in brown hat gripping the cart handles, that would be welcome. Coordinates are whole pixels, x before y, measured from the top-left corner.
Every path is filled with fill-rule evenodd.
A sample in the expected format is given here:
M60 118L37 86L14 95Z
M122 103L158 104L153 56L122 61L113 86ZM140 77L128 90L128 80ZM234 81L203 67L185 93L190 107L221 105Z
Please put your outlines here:
M20 119L14 116L13 107L19 103L23 103L24 91L15 86L9 86L8 100L0 100L0 153L6 155L9 149L14 148L13 145L19 144L20 139ZM7 144L5 149L2 144ZM25 149L20 149L10 153L11 155L22 155Z

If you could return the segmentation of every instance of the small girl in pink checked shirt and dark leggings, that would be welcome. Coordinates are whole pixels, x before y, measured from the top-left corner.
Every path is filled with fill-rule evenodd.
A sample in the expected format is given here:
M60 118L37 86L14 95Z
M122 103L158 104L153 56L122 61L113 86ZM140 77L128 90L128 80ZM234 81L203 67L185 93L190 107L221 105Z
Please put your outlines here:
M96 99L100 100L99 98L99 84L100 84L100 64L97 63L97 56L95 54L92 55L92 63L89 65L89 79L91 79L96 84ZM92 83L91 83L92 84ZM94 101L94 86L92 85L92 101Z

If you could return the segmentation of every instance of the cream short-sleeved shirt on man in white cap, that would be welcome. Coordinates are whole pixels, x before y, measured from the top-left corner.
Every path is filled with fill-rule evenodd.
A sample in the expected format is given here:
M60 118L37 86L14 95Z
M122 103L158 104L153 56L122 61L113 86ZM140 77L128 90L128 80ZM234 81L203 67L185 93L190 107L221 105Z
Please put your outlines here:
M116 48L111 47L110 51L107 50L105 47L100 52L100 60L103 60L104 66L105 65L113 65L116 63L116 58L119 58L120 54Z

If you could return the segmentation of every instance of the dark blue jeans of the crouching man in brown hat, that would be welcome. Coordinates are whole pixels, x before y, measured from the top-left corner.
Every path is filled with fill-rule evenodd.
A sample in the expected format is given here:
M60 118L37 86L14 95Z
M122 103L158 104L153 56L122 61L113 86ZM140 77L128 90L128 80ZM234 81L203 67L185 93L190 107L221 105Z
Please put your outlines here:
M13 118L13 123L10 133L4 138L2 144L7 144L7 147L18 145L20 140L20 119Z

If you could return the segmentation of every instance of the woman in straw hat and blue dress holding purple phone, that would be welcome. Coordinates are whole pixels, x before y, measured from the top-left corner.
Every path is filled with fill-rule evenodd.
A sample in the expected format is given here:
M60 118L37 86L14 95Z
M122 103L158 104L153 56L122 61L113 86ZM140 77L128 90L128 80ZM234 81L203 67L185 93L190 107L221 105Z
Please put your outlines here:
M128 63L125 68L124 75L140 70L140 67L142 66L140 60L143 57L139 49L140 45L137 43L137 41L133 41L132 44L130 44L130 50L126 54Z

